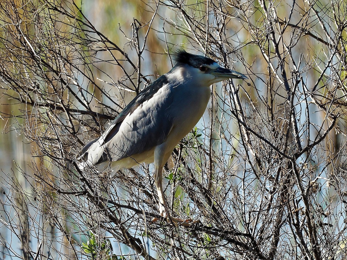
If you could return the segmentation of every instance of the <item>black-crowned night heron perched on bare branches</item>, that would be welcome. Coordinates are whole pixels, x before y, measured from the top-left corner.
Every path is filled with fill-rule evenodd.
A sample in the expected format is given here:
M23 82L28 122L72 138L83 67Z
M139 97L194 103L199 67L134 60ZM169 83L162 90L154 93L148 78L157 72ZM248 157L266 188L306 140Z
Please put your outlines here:
M176 65L142 90L76 158L83 159L84 165L109 162L114 168L154 162L160 215L170 223L187 224L192 220L172 217L168 211L162 187L163 166L203 115L211 96L210 86L247 77L184 50L178 50L174 60Z

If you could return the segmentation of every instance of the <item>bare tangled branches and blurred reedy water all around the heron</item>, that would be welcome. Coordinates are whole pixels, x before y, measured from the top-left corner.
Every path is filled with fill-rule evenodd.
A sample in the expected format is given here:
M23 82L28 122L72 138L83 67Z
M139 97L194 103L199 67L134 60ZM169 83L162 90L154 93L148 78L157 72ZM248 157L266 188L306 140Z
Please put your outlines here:
M345 259L346 1L0 3L0 259ZM178 47L211 88L166 166L76 168Z

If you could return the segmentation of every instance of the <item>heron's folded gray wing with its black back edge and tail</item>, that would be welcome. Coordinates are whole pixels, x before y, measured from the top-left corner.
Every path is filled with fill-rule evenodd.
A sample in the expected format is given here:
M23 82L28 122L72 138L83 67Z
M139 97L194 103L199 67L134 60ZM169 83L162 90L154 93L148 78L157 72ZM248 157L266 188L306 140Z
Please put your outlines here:
M162 75L137 95L107 130L88 143L76 158L96 165L141 154L161 144L172 128L168 80Z

